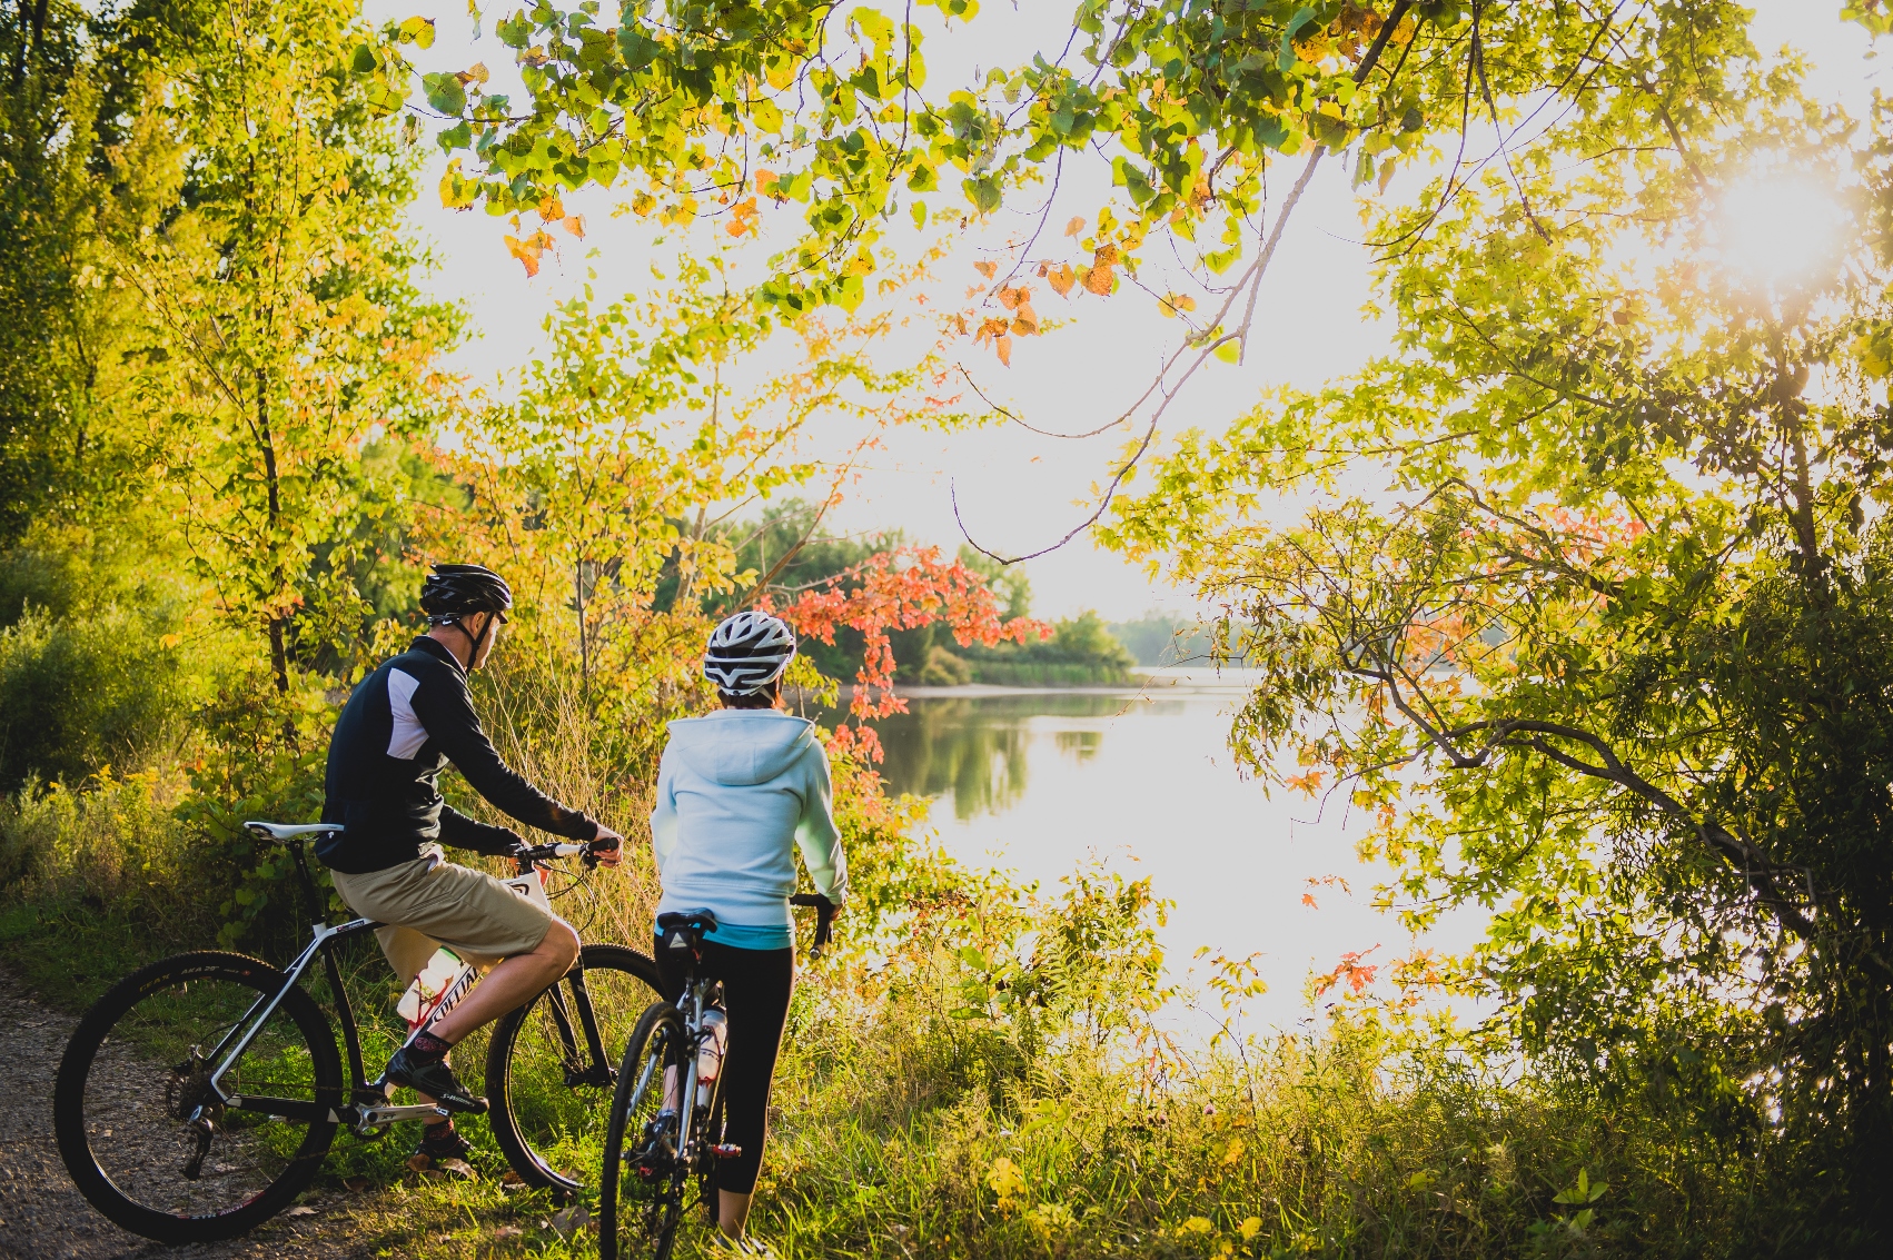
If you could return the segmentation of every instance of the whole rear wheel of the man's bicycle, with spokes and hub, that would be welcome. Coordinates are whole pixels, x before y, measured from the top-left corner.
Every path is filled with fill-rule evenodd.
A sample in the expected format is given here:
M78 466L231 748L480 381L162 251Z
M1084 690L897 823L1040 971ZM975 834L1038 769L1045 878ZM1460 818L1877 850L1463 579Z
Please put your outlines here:
M233 1054L220 1097L212 1075ZM295 1199L341 1101L335 1037L309 993L240 954L182 954L121 980L80 1022L53 1131L100 1213L159 1243L204 1243Z

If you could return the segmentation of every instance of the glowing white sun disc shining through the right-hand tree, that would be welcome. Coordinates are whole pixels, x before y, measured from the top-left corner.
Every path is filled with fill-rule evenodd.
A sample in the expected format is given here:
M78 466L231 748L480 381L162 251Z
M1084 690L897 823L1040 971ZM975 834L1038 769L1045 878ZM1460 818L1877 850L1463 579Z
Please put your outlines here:
M1800 170L1759 170L1723 193L1723 263L1768 289L1817 282L1844 244L1834 187Z

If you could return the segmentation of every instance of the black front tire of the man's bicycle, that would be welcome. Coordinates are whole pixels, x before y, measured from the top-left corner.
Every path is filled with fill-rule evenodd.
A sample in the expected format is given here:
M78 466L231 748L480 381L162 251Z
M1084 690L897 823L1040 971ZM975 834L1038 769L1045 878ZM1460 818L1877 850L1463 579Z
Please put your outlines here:
M490 1105L487 1124L494 1141L500 1143L500 1150L505 1152L505 1162L513 1165L513 1171L519 1173L528 1186L551 1188L566 1194L581 1190L583 1182L574 1175L572 1167L562 1169L558 1165L560 1160L555 1156L560 1152L577 1154L579 1150L585 1150L587 1162L594 1158L594 1146L589 1146L591 1133L572 1133L574 1128L583 1128L583 1112L587 1109L583 1105L577 1109L545 1107L547 1099L540 1099L538 1103L528 1101L522 1097L528 1090L522 1088L524 1082L521 1080L521 1075L530 1073L540 1076L540 1080L532 1082L538 1090L570 1090L572 1094L568 1097L574 1099L579 1097L579 1090L596 1088L598 1105L594 1124L602 1129L604 1111L611 1097L611 1069L617 1067L619 1056L623 1056L625 1044L628 1044L628 1029L625 1031L627 1042L623 1044L613 1044L617 1041L613 1037L613 1029L623 1027L625 1016L628 1016L630 1010L644 1010L642 1006L632 1006L630 1010L608 1010L606 1006L611 1005L610 989L617 988L621 991L630 991L630 986L613 986L606 982L606 976L630 976L642 989L649 989L649 993L659 995L657 963L653 963L649 955L638 954L627 946L589 944L579 954L579 967L568 972L560 982L566 986L566 1010L572 1014L575 1014L575 1001L572 1001L570 984L572 976L579 971L587 976L587 989L591 989L593 995L594 1012L600 1024L600 1041L604 1041L606 1050L606 1061L591 1065L593 1069L602 1071L583 1073L593 1076L589 1082L572 1084L570 1078L557 1082L545 1078L551 1071L551 1063L543 1059L547 1058L547 1050L557 1048L534 1042L549 1042L549 989L547 993L534 997L524 1006L502 1016L494 1024L492 1037L487 1042L487 1099ZM574 1033L577 1033L583 1041L583 1033L577 1027L574 1027ZM541 1059L540 1063L534 1063L532 1069L522 1067L522 1059L534 1058L532 1054L522 1052L522 1044L532 1046L532 1050L538 1052L536 1058ZM583 1044L579 1050L589 1054L589 1048ZM572 1164L572 1160L564 1160L564 1164Z

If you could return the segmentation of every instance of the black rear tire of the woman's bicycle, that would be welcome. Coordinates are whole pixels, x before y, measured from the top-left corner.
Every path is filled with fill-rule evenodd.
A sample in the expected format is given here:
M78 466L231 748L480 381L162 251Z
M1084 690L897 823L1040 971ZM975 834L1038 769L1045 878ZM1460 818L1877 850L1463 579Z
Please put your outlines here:
M659 1037L666 1044L653 1046ZM646 1071L647 1056L653 1058L651 1071ZM625 1131L642 1114L651 1090L659 1092L659 1105L663 1103L664 1067L678 1069L680 1082L689 1080L689 1073L683 1071L683 1016L670 1003L657 1001L638 1018L617 1071L617 1088L611 1092L611 1116L604 1129L604 1167L598 1177L598 1260L670 1260L678 1243L683 1181L689 1169L674 1165L663 1184L651 1188L651 1196L640 1196L646 1199L642 1203L628 1192L644 1186L625 1177ZM651 1198L657 1199L655 1205ZM627 1213L627 1207L636 1211Z

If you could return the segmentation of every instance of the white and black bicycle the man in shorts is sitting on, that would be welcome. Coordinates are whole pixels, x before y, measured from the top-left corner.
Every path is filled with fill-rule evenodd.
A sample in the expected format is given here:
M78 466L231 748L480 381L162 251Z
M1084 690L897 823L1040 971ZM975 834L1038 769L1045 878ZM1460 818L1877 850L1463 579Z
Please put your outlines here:
M278 971L242 954L201 950L127 976L85 1014L53 1086L59 1152L80 1192L119 1226L159 1243L246 1234L290 1207L341 1128L382 1137L403 1120L447 1112L390 1105L369 1080L362 1029L337 950L380 927L329 925L303 853L337 825L244 823L295 859L314 938ZM515 855L521 895L549 863L587 844ZM303 980L322 959L348 1058ZM657 989L657 965L623 946L587 944L564 980L496 1022L487 1054L488 1122L513 1169L536 1186L575 1190L577 1152L596 1150L630 1012ZM462 989L464 995L464 989ZM447 1003L432 1018L445 1014ZM392 1050L392 1044L388 1046Z

